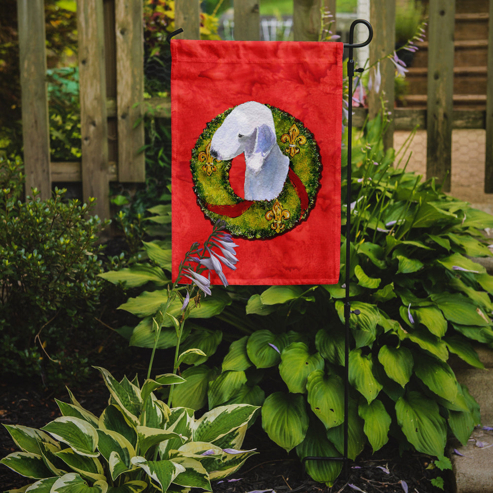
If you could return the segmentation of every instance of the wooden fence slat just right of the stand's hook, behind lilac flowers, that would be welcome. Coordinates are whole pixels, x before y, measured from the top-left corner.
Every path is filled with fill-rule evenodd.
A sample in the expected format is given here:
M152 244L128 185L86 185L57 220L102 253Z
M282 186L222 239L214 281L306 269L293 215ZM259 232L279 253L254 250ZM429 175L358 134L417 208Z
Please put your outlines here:
M370 22L373 32L376 34L369 45L370 65L373 65L381 58L392 53L395 49L395 1L394 0L373 0L370 3ZM355 54L355 57L357 54ZM364 60L359 61L359 66L364 64ZM373 70L373 69L372 69ZM380 63L382 74L382 84L378 93L374 89L368 95L368 107L370 118L375 118L382 109L381 101L385 101L385 110L391 112L391 121L384 134L384 147L393 146L394 134L394 77L395 67L393 63L384 59Z

